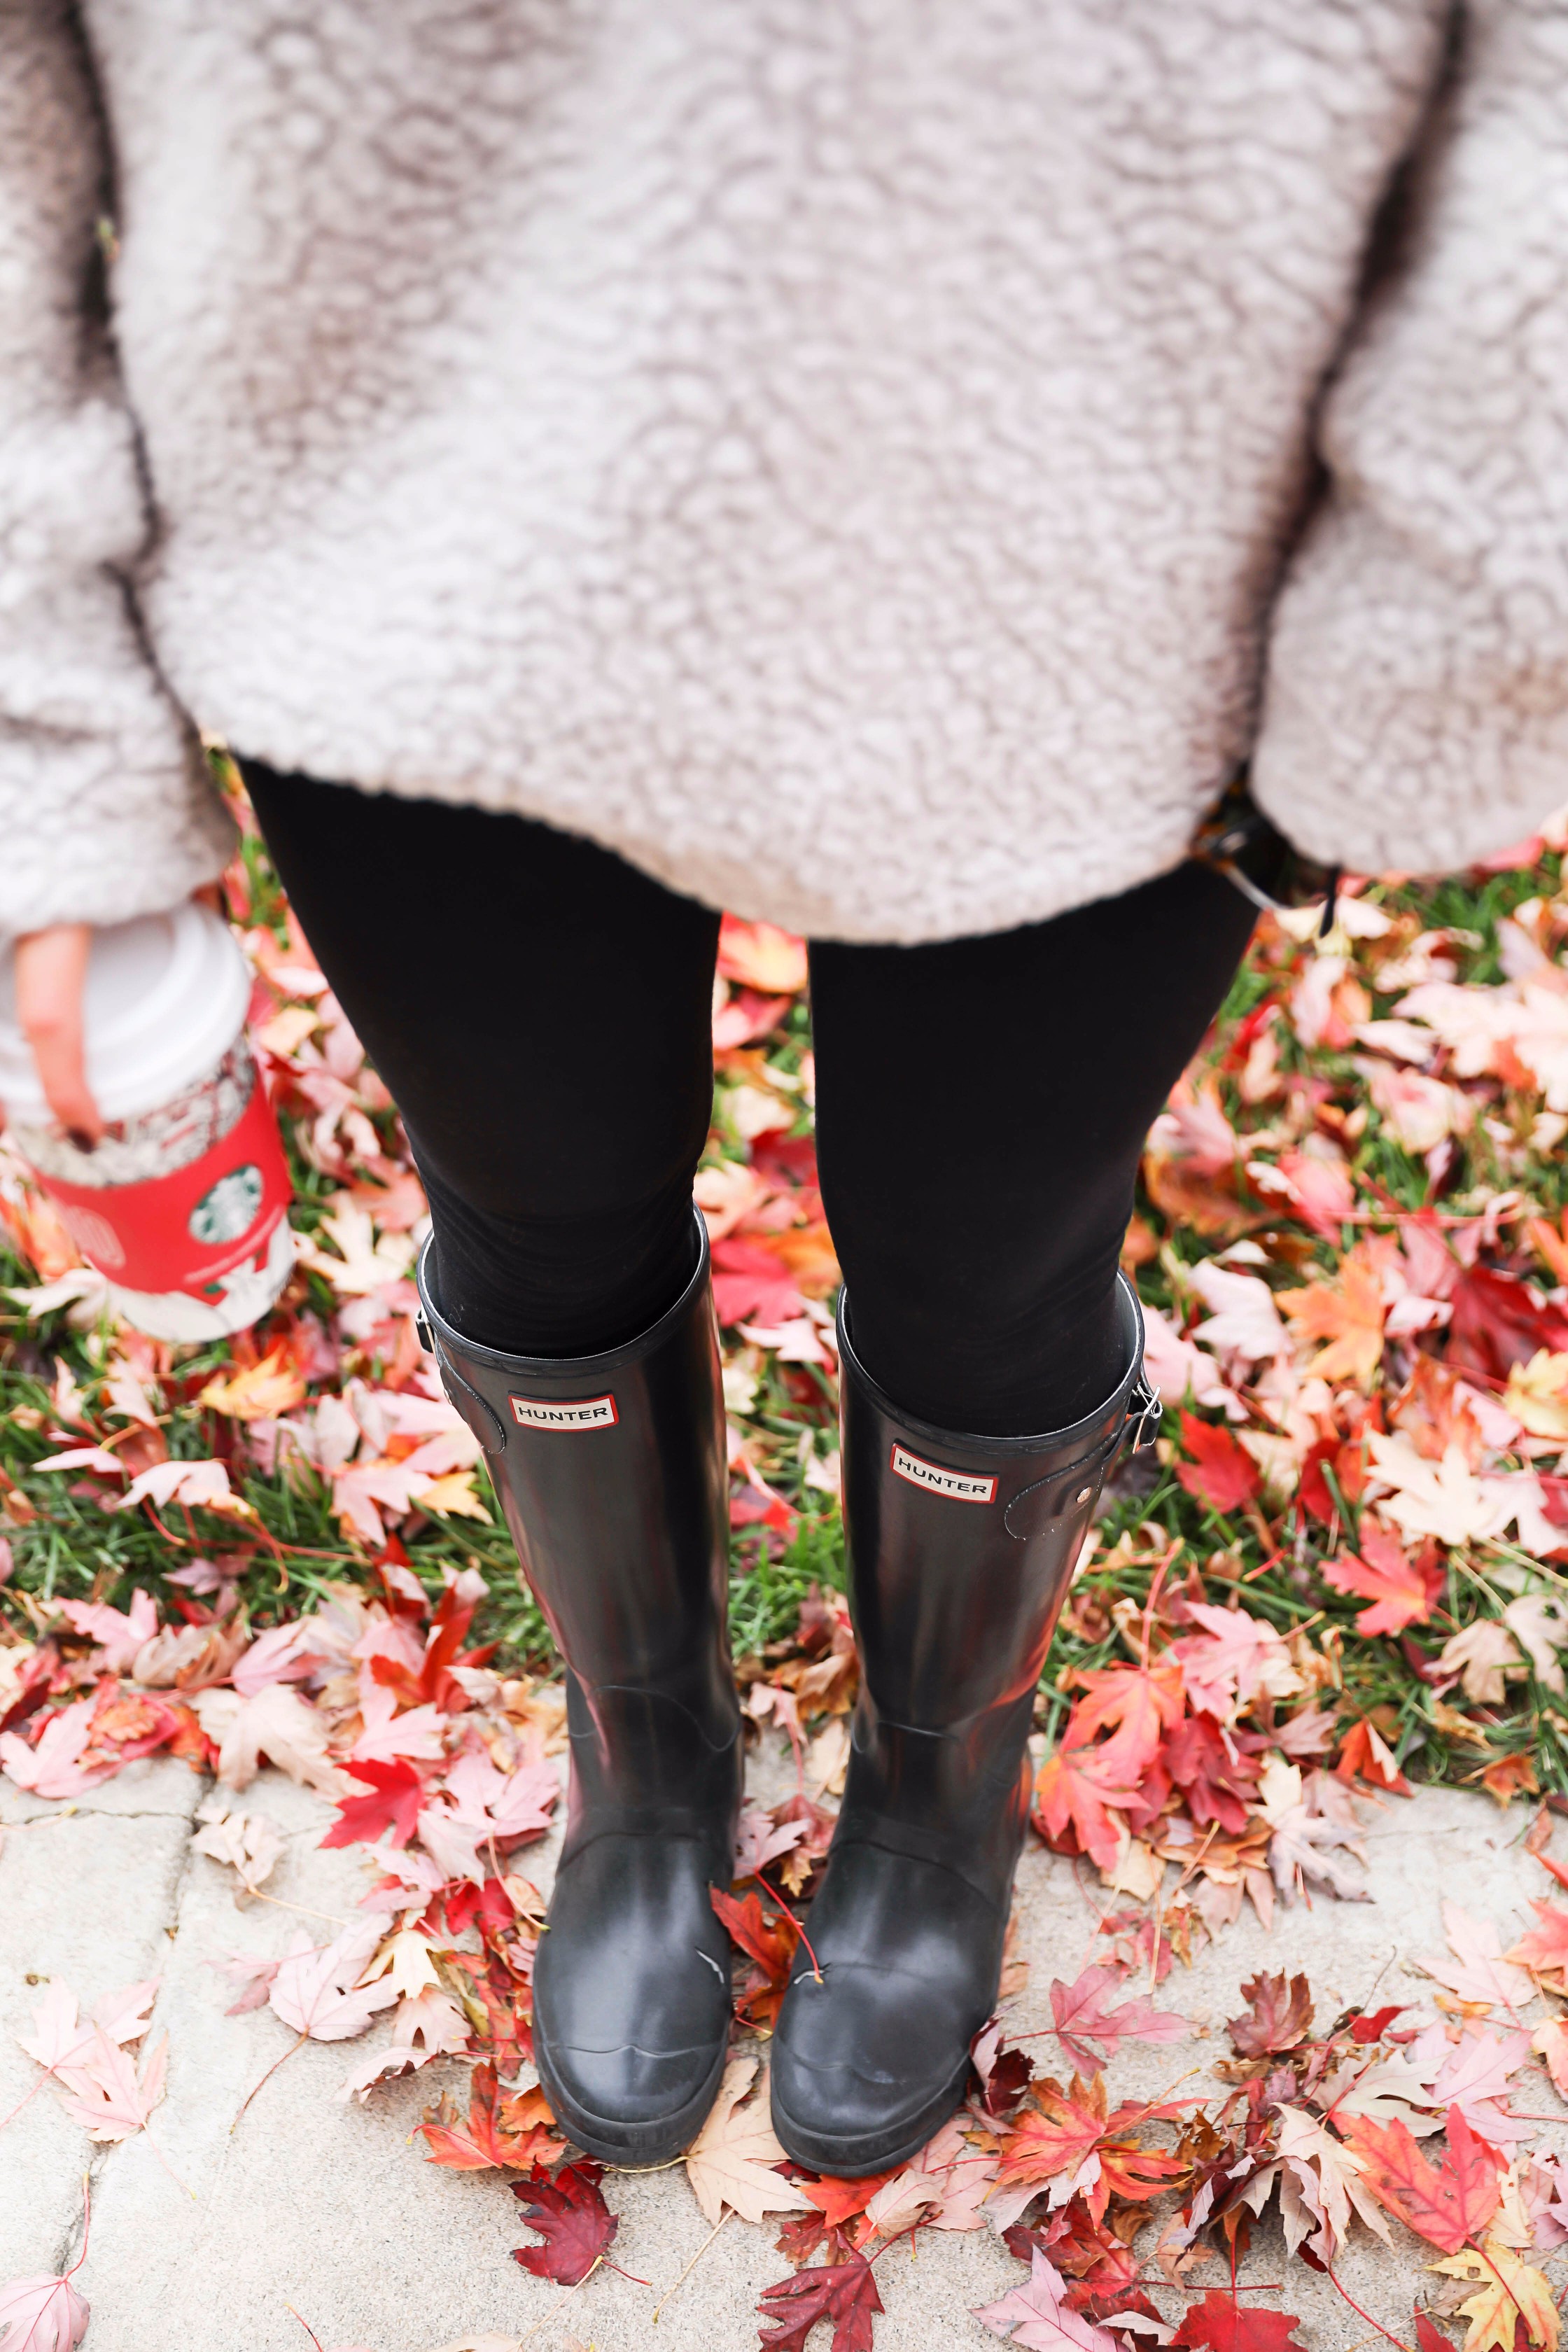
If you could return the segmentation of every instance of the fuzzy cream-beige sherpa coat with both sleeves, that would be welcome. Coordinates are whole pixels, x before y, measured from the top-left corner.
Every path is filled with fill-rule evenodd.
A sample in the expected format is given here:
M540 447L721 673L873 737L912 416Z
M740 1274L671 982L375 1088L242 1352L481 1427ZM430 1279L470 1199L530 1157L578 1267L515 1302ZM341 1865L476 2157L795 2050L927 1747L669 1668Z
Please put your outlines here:
M106 256L106 266L99 266ZM839 938L1568 793L1563 0L0 0L0 927L193 729Z

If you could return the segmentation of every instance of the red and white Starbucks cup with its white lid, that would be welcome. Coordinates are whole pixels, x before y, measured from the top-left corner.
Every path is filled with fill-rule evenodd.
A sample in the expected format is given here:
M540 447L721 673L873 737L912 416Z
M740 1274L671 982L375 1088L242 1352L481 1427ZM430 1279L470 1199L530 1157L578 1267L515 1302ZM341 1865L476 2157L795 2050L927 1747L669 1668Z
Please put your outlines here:
M249 971L228 924L186 903L94 931L82 1025L106 1122L78 1150L45 1103L0 948L0 1103L78 1249L139 1331L242 1331L294 1268L289 1169L244 1037Z

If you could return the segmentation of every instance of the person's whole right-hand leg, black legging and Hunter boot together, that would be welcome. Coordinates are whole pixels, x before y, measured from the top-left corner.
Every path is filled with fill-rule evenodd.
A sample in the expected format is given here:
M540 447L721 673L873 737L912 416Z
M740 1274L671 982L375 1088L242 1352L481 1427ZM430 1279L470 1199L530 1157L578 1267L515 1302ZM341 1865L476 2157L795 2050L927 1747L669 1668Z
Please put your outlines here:
M813 948L863 1686L773 2122L820 2171L924 2145L994 2006L1034 1691L1143 1411L1138 1150L1251 920L1182 868L1001 938Z

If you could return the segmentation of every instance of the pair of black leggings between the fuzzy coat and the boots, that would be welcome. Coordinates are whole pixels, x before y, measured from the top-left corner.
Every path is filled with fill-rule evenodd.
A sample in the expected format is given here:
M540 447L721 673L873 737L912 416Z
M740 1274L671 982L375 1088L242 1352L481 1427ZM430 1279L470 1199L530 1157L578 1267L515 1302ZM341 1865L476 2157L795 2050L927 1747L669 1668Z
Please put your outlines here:
M522 816L244 774L404 1115L442 1310L520 1355L646 1329L691 1270L719 917ZM823 1207L905 1411L1025 1435L1114 1388L1138 1152L1251 922L1180 866L987 938L813 943Z

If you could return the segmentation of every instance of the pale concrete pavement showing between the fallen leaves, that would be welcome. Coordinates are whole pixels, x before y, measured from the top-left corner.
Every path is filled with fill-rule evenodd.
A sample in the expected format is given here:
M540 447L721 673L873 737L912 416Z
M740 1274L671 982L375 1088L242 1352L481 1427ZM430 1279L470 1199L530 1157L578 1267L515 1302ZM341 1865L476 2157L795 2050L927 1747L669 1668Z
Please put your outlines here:
M766 1792L778 1771L780 1759L769 1755L752 1778ZM240 1802L284 1832L287 1853L268 1893L299 1910L237 1910L233 1875L188 1853L197 1792L183 1766L158 1764L141 1769L139 1783L110 1783L101 1804L82 1802L73 1816L31 1799L9 1804L9 1818L26 1825L0 1853L5 2027L35 1999L26 1973L61 1973L85 1997L160 1973L155 2023L172 2034L169 2098L153 2124L158 2147L141 2138L96 2157L94 2239L78 2281L94 2305L87 2352L301 2352L306 2338L289 2303L322 2345L369 2352L430 2352L480 2331L527 2336L538 2352L569 2352L574 2343L595 2352L646 2343L752 2352L757 2296L788 2263L773 2253L773 2230L738 2220L724 2225L651 2328L656 2303L708 2239L682 2171L607 2183L621 2213L614 2256L630 2279L599 2272L562 2298L522 2272L510 2251L531 2239L517 2227L505 2185L433 2169L418 2143L409 2145L435 2089L463 2084L465 2070L451 2060L360 2107L334 2093L367 2044L308 2044L235 2122L289 2034L270 2011L223 2016L230 1992L207 1964L226 1952L273 1957L296 1924L329 1933L364 1882L353 1853L315 1844L329 1809L263 1773ZM1192 2018L1194 2039L1126 2051L1112 2089L1154 2093L1197 2067L1182 2091L1218 2093L1208 2065L1227 2053L1222 2020L1241 2006L1239 1985L1258 1966L1305 1969L1321 2018L1366 1999L1373 1985L1380 1999L1425 1999L1429 1985L1408 1964L1441 1950L1443 1896L1488 1915L1505 1943L1528 1924L1528 1896L1544 1879L1519 1846L1523 1828L1521 1811L1502 1816L1486 1797L1432 1790L1392 1799L1368 1823L1375 1900L1298 1905L1281 1912L1272 1936L1248 1912L1192 1971L1178 1969L1161 1987L1161 1999ZM552 1846L531 1849L524 1867L548 1884ZM1041 1851L1025 1858L1018 1912L1030 1985L1011 2034L1048 2025L1046 1987L1093 1957L1107 1903L1095 1872ZM383 2034L371 2027L371 2039ZM1034 2049L1051 2051L1051 2042ZM31 2079L7 2032L0 2098L14 2100ZM1523 2079L1530 2093L1519 2105L1559 2110L1544 2077ZM1568 2145L1563 2131L1547 2138ZM73 2244L87 2157L89 2143L49 2091L0 2138L0 2277L52 2267ZM1373 2319L1408 2340L1425 2249L1399 2227L1396 2237L1403 2253L1392 2258L1359 2232L1340 2277ZM990 2234L926 2234L917 2251L896 2246L877 2277L886 2303L877 2352L978 2352L994 2338L973 2307L1004 2293L1020 2270ZM1371 2338L1326 2279L1302 2263L1286 2265L1272 2230L1260 2232L1244 2277L1286 2281L1269 2305L1300 2314L1312 2352L1349 2352Z

